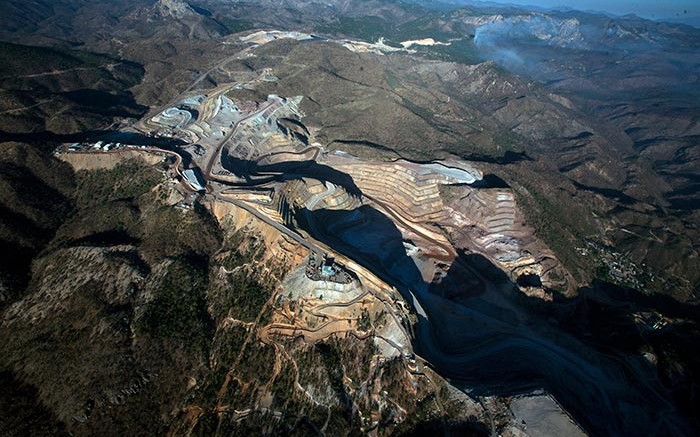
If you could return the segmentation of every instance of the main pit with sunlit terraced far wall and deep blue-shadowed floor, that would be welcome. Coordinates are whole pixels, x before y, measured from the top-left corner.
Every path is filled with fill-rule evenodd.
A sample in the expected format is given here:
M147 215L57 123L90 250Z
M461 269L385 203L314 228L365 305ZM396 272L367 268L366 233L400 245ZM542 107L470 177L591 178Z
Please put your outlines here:
M483 175L465 162L284 153L225 150L222 163L248 188L275 187L268 216L397 287L418 315L416 350L440 374L484 395L545 388L595 435L686 433L641 355L602 352L522 305L578 284L507 184L474 184Z

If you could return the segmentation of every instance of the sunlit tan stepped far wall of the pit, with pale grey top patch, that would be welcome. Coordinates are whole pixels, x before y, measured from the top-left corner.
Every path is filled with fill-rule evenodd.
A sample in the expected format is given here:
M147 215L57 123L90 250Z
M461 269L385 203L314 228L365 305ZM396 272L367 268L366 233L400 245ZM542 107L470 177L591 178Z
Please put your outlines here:
M512 191L488 188L482 173L471 165L333 158L329 158L333 167L352 177L363 199L378 205L402 229L412 231L408 239L424 253L443 260L454 258L460 250L481 254L524 292L542 298L552 297L547 290L575 292L570 274L535 237L534 229L525 225ZM480 187L472 188L470 184L477 181ZM431 247L443 247L447 258ZM518 281L522 275L537 276L539 281Z

